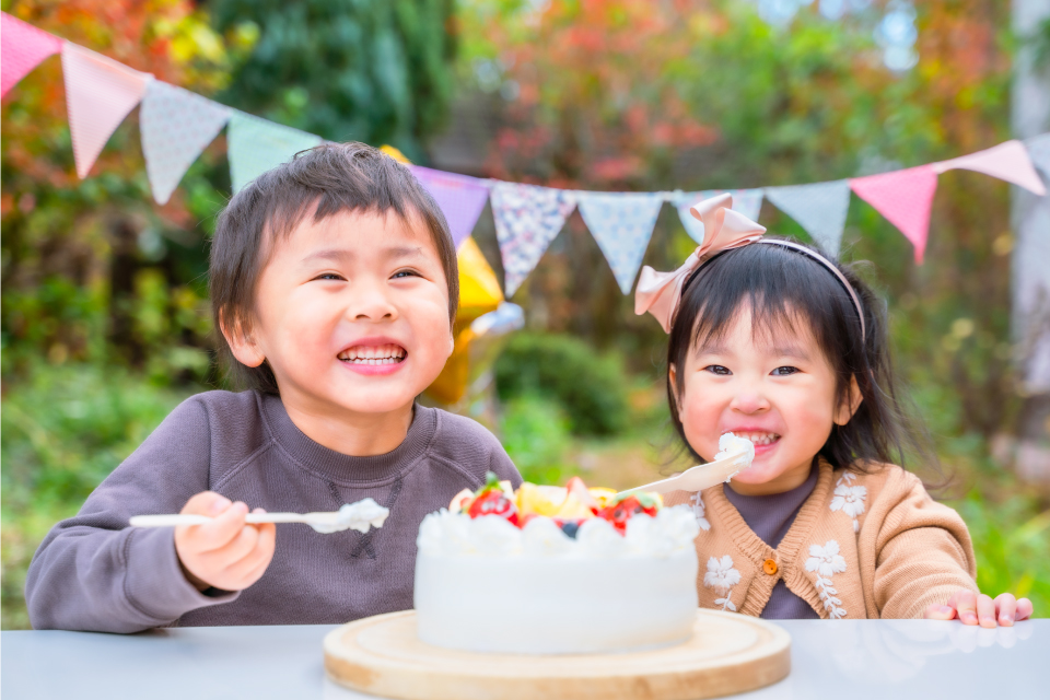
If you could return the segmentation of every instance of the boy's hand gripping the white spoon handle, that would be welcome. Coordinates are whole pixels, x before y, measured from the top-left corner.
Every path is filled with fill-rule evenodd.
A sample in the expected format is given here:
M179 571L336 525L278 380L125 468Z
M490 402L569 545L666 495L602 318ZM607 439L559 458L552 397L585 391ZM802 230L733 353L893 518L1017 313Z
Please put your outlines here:
M259 580L273 558L273 523L245 524L248 506L212 491L189 499L182 512L214 518L175 528L175 551L190 583L200 591L241 591Z

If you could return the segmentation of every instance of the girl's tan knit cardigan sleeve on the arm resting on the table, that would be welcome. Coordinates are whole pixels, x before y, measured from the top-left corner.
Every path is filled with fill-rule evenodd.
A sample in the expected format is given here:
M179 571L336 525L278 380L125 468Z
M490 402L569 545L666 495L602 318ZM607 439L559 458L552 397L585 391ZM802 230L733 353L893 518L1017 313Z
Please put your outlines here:
M875 604L879 617L921 618L960 588L978 592L977 560L966 523L937 503L922 482L907 485L883 521L876 542Z

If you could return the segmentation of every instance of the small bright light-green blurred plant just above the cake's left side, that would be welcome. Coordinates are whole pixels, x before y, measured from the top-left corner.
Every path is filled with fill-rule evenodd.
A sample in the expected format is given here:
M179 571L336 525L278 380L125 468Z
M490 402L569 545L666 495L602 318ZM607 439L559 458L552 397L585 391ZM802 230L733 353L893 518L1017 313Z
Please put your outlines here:
M563 483L570 470L569 419L557 401L525 394L503 406L500 434L526 481Z

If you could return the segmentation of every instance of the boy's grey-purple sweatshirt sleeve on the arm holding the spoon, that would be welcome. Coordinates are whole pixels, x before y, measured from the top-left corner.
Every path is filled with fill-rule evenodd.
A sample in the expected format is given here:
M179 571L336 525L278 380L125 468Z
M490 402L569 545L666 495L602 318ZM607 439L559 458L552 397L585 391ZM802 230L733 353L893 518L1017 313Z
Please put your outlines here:
M35 629L137 632L226 603L186 580L174 528L128 526L132 515L178 513L210 487L211 440L199 399L179 405L88 498L51 528L25 584Z

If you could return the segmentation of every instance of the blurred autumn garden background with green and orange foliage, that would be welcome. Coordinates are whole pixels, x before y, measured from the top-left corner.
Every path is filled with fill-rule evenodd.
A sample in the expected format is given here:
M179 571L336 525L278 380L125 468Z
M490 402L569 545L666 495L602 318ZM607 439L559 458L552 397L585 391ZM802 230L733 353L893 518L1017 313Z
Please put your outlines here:
M1050 92L1050 22L1018 27L1000 0L0 8L325 139L389 144L413 163L477 177L591 190L794 185L924 164L1018 136L1019 57ZM51 57L0 115L3 629L28 626L25 570L50 526L176 404L223 387L207 256L231 191L224 137L161 206L137 114L81 180L66 110ZM970 526L982 590L1027 595L1047 616L1050 400L1020 381L1030 332L1012 315L1011 211L1003 182L948 172L924 265L858 198L841 257L866 261L862 273L886 301L897 366L947 477L940 498ZM759 221L808 240L768 202ZM488 209L474 240L502 282ZM695 245L664 207L645 262L673 269ZM488 422L526 478L579 474L626 488L689 466L667 422L665 336L634 316L579 212L510 301L525 327L488 358L493 383L455 407Z

